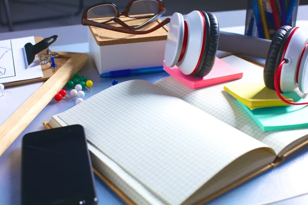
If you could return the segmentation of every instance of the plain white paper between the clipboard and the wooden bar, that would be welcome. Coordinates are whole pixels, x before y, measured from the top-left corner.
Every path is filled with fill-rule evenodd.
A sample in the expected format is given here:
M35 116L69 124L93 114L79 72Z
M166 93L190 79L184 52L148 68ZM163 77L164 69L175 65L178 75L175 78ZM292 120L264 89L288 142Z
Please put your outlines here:
M0 126L43 84L31 83L4 88L0 92Z

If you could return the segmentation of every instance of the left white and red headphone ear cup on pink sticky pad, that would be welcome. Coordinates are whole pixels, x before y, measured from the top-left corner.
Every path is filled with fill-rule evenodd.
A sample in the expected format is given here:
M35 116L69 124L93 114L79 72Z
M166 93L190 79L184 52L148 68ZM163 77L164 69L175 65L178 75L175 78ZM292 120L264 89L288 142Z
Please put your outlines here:
M210 12L192 11L184 17L174 13L165 48L167 67L183 74L203 77L213 68L218 48L219 25Z

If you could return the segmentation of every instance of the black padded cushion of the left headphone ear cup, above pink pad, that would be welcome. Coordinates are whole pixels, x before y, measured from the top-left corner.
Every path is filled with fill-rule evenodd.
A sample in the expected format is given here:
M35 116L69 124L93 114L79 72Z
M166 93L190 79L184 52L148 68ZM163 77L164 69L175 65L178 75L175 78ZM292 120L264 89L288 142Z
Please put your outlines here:
M206 43L199 65L199 71L197 70L194 74L198 77L206 76L213 68L219 41L219 23L217 17L210 12L202 11L202 14L205 19L208 19L208 21L205 20L205 23L209 23L209 30L206 30Z

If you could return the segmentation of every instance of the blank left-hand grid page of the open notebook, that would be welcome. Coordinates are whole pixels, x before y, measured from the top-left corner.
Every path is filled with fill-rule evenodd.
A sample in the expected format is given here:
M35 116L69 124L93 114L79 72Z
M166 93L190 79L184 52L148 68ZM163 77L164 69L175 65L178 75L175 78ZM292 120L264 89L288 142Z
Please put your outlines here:
M84 126L91 144L169 204L180 204L231 161L264 147L145 80L112 86L57 116Z

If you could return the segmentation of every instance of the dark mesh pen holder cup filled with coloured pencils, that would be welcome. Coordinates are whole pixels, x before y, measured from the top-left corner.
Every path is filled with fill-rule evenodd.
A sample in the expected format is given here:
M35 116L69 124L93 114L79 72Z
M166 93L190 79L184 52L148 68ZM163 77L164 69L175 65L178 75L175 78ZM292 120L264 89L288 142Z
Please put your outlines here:
M248 0L245 35L273 39L285 25L296 24L299 0Z

